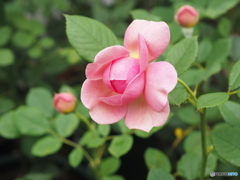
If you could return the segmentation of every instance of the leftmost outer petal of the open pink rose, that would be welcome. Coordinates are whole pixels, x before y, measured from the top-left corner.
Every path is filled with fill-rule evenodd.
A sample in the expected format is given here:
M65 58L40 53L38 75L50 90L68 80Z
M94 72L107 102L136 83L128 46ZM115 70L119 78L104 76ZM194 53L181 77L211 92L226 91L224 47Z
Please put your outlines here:
M99 97L112 95L112 91L106 87L102 80L84 81L81 89L81 100L84 106L91 109L98 101Z

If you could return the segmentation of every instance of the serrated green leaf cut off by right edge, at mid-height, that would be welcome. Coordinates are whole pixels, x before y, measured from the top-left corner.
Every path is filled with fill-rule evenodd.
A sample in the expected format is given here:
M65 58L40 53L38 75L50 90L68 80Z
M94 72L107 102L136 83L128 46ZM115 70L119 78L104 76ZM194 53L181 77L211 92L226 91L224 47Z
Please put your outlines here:
M229 90L237 88L240 88L240 60L234 64L229 76Z

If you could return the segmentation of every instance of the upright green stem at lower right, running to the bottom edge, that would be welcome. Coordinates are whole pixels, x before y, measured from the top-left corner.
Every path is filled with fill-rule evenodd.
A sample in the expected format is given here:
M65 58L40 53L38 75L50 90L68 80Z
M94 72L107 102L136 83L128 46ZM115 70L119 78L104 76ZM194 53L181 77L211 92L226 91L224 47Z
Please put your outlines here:
M205 119L206 110L203 109L201 116L201 139L202 139L202 167L200 173L200 180L204 180L206 162L207 162L207 149L206 149L206 119Z

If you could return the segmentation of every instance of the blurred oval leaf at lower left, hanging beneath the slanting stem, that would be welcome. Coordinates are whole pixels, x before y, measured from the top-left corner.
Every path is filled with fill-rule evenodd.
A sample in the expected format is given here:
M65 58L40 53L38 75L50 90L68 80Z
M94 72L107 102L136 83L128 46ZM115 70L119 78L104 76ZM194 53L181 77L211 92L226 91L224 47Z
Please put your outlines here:
M53 137L45 136L39 139L32 147L32 154L38 157L44 157L56 153L62 147L62 142Z

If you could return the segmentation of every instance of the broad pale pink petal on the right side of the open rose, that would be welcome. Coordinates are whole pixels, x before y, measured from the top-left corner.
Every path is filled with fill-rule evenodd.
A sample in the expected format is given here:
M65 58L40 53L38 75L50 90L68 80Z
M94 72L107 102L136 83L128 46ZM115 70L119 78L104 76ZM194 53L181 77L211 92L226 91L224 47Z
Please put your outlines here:
M155 111L162 111L168 103L168 93L177 84L177 72L168 62L150 63L146 70L145 99Z

